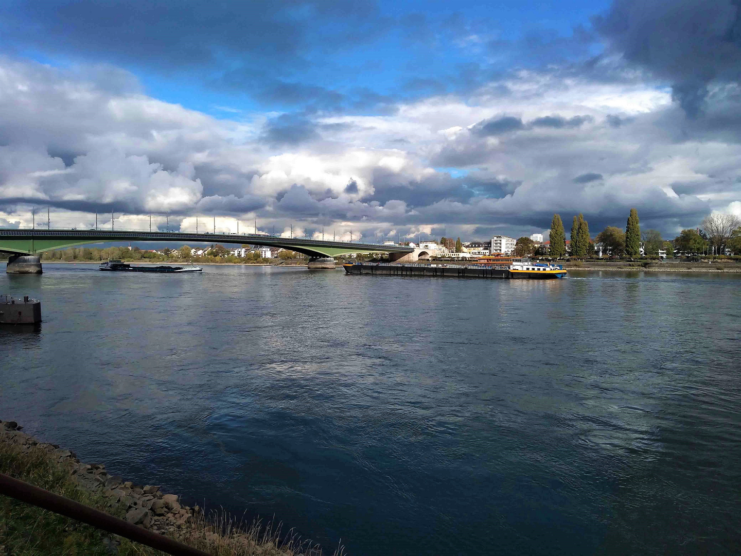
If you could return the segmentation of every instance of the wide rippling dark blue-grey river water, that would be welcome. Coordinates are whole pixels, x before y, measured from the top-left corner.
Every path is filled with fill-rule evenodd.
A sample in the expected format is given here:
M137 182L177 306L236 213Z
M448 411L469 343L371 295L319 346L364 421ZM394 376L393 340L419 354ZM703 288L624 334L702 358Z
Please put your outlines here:
M0 276L0 418L351 556L741 546L741 276Z

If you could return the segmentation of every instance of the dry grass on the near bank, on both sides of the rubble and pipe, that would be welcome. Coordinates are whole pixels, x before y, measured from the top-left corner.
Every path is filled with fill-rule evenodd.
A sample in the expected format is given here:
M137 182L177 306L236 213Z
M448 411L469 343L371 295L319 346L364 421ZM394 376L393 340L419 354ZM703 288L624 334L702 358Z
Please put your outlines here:
M0 441L0 472L42 489L92 506L116 517L127 508L75 483L70 468L56 463L37 446ZM318 546L295 535L281 535L280 527L245 524L226 512L199 514L192 523L169 534L214 556L319 556ZM53 512L0 496L0 556L159 556L163 552L101 532ZM344 556L342 547L334 556Z

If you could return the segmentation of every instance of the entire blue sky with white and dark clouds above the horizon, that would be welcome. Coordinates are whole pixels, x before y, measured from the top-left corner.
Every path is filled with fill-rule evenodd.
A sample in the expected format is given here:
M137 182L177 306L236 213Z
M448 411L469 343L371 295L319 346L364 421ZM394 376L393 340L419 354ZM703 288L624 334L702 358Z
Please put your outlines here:
M741 1L0 0L0 228L741 216ZM207 222L207 224L205 224Z

